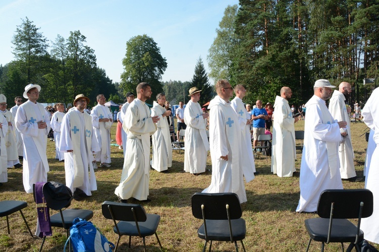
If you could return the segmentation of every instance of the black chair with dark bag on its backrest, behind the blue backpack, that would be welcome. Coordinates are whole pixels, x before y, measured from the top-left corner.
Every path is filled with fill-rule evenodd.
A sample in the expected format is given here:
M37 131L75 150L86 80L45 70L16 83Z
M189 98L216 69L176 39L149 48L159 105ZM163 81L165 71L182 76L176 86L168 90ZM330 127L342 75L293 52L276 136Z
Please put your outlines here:
M67 238L70 236L70 227L75 218L79 217L83 220L90 220L93 216L93 212L90 210L82 209L64 209L70 206L73 198L71 190L64 184L59 182L46 182L43 185L43 197L46 201L46 206L52 210L59 211L50 216L50 224L52 227L63 227L67 230ZM35 184L33 184L33 197L35 200ZM41 247L39 251L42 251L43 243L46 236L43 236ZM71 243L69 243L71 250Z

